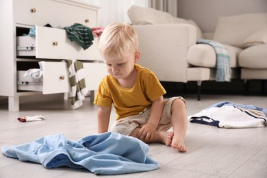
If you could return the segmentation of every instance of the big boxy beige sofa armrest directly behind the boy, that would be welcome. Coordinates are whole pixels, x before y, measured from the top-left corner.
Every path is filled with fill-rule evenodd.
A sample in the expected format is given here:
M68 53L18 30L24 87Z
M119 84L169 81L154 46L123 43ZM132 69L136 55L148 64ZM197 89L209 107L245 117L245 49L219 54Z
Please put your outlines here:
M138 33L140 65L160 81L187 82L188 49L196 44L196 27L188 24L133 25Z

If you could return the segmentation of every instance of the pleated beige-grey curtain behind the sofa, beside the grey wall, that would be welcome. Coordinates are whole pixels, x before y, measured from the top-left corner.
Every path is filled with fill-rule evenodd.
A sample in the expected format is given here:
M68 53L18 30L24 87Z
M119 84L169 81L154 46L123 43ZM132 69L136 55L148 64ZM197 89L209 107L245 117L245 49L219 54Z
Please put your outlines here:
M177 16L177 0L149 0L149 7Z

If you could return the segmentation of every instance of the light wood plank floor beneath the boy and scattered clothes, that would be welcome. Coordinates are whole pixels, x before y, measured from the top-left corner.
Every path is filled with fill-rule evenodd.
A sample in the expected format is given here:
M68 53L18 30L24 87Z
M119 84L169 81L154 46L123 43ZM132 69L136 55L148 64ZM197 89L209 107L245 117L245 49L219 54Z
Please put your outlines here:
M267 108L267 97L185 95L188 115L195 114L218 101L253 104ZM78 140L97 133L97 107L87 99L78 110L71 110L70 101L25 102L20 112L8 112L0 105L0 147L31 142L42 136L64 133ZM42 114L46 120L20 123L19 116ZM112 116L116 115L112 112ZM114 122L114 119L111 120ZM105 177L267 177L267 127L251 129L219 129L188 123L187 153L164 146L149 144L149 154L160 168L145 173ZM88 170L53 168L20 162L0 155L0 177L96 177Z

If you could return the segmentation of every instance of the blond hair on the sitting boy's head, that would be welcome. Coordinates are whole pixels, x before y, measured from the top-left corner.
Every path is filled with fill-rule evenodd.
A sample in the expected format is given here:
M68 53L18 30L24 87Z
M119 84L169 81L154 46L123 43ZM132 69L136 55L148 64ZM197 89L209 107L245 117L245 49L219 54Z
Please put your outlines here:
M121 60L138 51L138 35L127 23L112 23L99 38L99 50L105 60Z

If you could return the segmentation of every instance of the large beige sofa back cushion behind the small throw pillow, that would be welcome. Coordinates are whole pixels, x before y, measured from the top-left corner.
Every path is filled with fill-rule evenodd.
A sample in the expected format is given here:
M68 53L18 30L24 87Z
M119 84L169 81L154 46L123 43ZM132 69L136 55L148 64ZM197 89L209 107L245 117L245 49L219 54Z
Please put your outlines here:
M267 13L223 16L218 18L213 40L244 47L243 42L246 38L265 27L267 27Z

